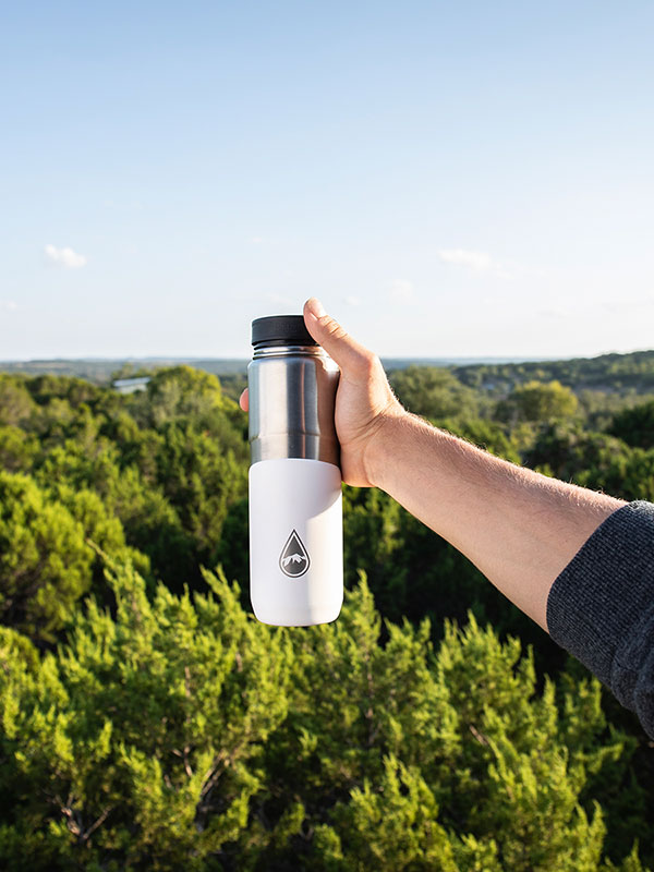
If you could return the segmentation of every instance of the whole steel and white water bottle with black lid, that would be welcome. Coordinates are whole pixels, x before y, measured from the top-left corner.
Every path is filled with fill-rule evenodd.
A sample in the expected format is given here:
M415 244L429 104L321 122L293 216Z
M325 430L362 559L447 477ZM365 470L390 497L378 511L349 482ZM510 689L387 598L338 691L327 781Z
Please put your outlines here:
M264 623L335 620L343 601L339 370L302 315L252 323L250 590Z

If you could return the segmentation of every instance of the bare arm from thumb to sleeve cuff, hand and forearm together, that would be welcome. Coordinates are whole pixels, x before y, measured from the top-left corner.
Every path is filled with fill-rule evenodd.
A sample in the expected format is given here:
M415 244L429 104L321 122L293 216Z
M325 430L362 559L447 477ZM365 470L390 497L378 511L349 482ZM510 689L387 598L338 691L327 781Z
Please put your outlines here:
M546 630L554 580L625 504L516 467L409 414L378 358L317 301L307 302L304 317L341 368L336 425L343 480L386 491Z

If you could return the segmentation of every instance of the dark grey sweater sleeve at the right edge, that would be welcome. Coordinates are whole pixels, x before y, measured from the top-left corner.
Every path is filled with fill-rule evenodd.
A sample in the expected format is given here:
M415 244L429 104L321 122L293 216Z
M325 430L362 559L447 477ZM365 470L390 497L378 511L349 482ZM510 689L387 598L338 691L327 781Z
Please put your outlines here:
M654 738L654 505L597 528L554 582L547 627Z

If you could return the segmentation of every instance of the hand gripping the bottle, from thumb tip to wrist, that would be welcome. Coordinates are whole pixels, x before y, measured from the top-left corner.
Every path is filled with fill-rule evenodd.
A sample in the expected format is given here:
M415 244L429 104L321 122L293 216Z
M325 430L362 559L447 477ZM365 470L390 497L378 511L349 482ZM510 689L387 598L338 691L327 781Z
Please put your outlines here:
M304 323L341 371L336 432L343 481L356 487L372 487L376 484L374 447L384 438L387 422L407 413L390 389L379 358L352 339L313 296L304 304ZM247 390L241 395L240 403L246 412Z

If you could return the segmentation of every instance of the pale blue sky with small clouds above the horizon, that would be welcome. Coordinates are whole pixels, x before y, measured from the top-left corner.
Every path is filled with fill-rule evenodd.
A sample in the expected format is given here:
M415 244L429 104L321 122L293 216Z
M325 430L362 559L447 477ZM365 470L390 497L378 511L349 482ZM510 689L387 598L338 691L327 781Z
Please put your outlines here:
M654 2L4 3L0 360L654 347Z

